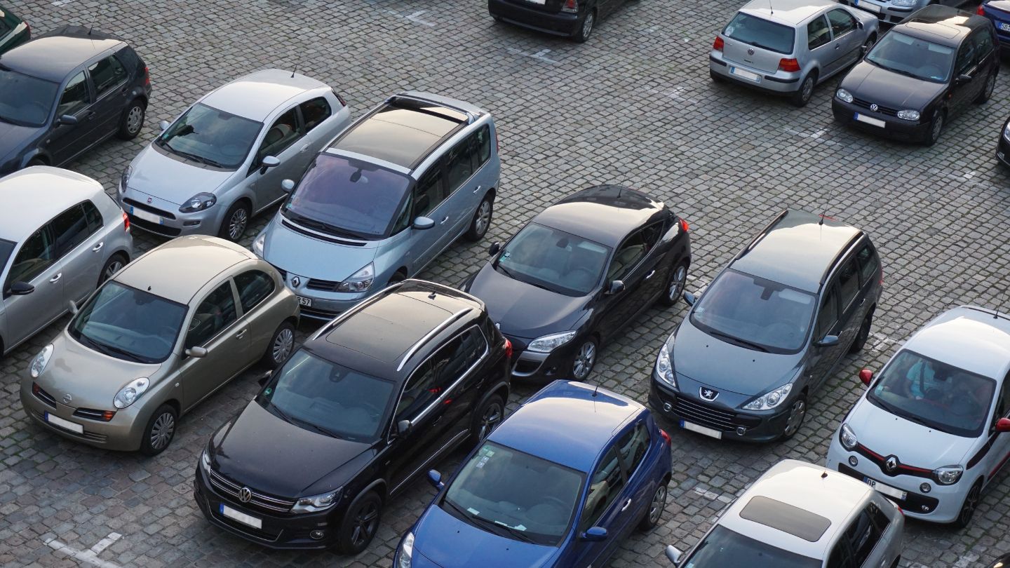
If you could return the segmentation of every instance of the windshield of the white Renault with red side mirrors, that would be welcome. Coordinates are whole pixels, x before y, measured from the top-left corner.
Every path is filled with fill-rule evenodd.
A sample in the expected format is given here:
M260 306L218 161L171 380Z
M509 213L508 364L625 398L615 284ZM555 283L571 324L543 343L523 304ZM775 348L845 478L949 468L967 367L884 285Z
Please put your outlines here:
M918 353L902 350L881 373L867 398L914 422L977 437L992 405L996 381Z

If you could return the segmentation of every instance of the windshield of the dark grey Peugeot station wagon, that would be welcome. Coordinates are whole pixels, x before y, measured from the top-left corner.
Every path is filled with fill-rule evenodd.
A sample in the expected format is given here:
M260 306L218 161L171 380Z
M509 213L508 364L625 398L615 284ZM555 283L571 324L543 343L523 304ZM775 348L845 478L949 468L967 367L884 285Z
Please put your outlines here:
M691 322L748 349L796 353L807 339L814 300L808 292L727 270L705 290Z

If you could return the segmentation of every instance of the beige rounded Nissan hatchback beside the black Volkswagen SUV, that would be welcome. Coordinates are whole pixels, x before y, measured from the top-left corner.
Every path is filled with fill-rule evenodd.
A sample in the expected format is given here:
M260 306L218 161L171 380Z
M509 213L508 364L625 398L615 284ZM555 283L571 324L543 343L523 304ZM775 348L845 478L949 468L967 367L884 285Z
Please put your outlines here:
M180 414L294 347L298 302L280 275L216 238L177 239L105 282L31 361L25 413L109 450L156 455Z

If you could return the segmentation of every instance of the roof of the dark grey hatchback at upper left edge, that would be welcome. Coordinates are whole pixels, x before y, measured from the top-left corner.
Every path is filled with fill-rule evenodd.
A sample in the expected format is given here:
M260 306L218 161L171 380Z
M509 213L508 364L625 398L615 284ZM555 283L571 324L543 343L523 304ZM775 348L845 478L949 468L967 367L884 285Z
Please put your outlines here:
M91 58L122 44L123 40L111 33L65 25L36 35L3 54L0 65L18 73L61 83L70 72Z

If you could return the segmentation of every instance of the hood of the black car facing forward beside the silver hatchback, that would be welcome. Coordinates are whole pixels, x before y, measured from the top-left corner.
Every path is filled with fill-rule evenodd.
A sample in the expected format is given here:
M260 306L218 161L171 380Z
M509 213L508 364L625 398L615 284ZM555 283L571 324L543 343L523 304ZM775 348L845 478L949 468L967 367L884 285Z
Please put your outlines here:
M838 86L855 98L898 110L922 110L947 87L881 69L865 61L856 64Z

